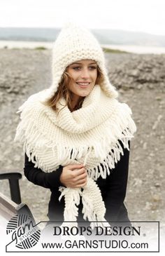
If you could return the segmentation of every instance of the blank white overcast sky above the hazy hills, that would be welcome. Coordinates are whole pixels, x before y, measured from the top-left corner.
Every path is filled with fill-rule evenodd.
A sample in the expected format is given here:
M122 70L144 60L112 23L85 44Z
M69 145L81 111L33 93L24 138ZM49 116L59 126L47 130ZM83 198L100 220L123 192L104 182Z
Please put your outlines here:
M0 0L0 27L122 29L165 35L165 0Z

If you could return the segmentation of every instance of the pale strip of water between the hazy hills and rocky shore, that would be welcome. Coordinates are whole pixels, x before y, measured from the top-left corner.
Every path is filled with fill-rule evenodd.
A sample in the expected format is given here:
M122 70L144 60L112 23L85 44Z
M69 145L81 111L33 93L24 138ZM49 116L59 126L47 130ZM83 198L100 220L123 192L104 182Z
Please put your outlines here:
M44 47L52 49L52 42L45 41L0 41L0 48L38 48ZM117 44L102 44L104 48L115 50L124 50L129 53L137 54L164 54L165 47L156 46L136 46L136 45L117 45Z

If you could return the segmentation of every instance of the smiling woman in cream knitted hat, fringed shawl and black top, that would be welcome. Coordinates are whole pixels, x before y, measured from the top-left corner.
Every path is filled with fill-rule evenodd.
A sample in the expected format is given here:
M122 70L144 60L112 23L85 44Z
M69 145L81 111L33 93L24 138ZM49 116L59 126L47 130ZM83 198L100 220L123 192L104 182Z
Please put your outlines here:
M53 48L52 86L20 107L15 135L24 144L24 175L52 192L50 220L130 224L124 197L136 126L116 98L98 41L87 29L64 27Z

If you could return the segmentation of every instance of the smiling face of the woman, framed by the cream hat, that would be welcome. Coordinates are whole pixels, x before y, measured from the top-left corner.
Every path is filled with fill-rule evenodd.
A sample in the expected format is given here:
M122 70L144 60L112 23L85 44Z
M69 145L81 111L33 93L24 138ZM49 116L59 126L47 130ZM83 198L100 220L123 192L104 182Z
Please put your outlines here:
M67 68L73 82L69 89L75 97L86 97L94 88L97 78L97 64L94 60L73 62Z

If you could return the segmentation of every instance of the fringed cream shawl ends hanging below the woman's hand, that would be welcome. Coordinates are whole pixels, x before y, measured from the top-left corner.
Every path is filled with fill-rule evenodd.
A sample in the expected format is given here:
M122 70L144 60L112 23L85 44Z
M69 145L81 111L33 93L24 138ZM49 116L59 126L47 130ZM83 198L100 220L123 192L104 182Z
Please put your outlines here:
M78 227L77 217L80 196L82 196L83 218L91 222L92 229L94 227L110 227L110 224L104 218L106 208L101 191L94 180L88 178L87 185L83 187L82 191L79 188L71 189L65 187L59 187L59 191L62 192L61 196L59 196L59 201L64 196L64 221L69 221L69 224L67 224L69 227Z

